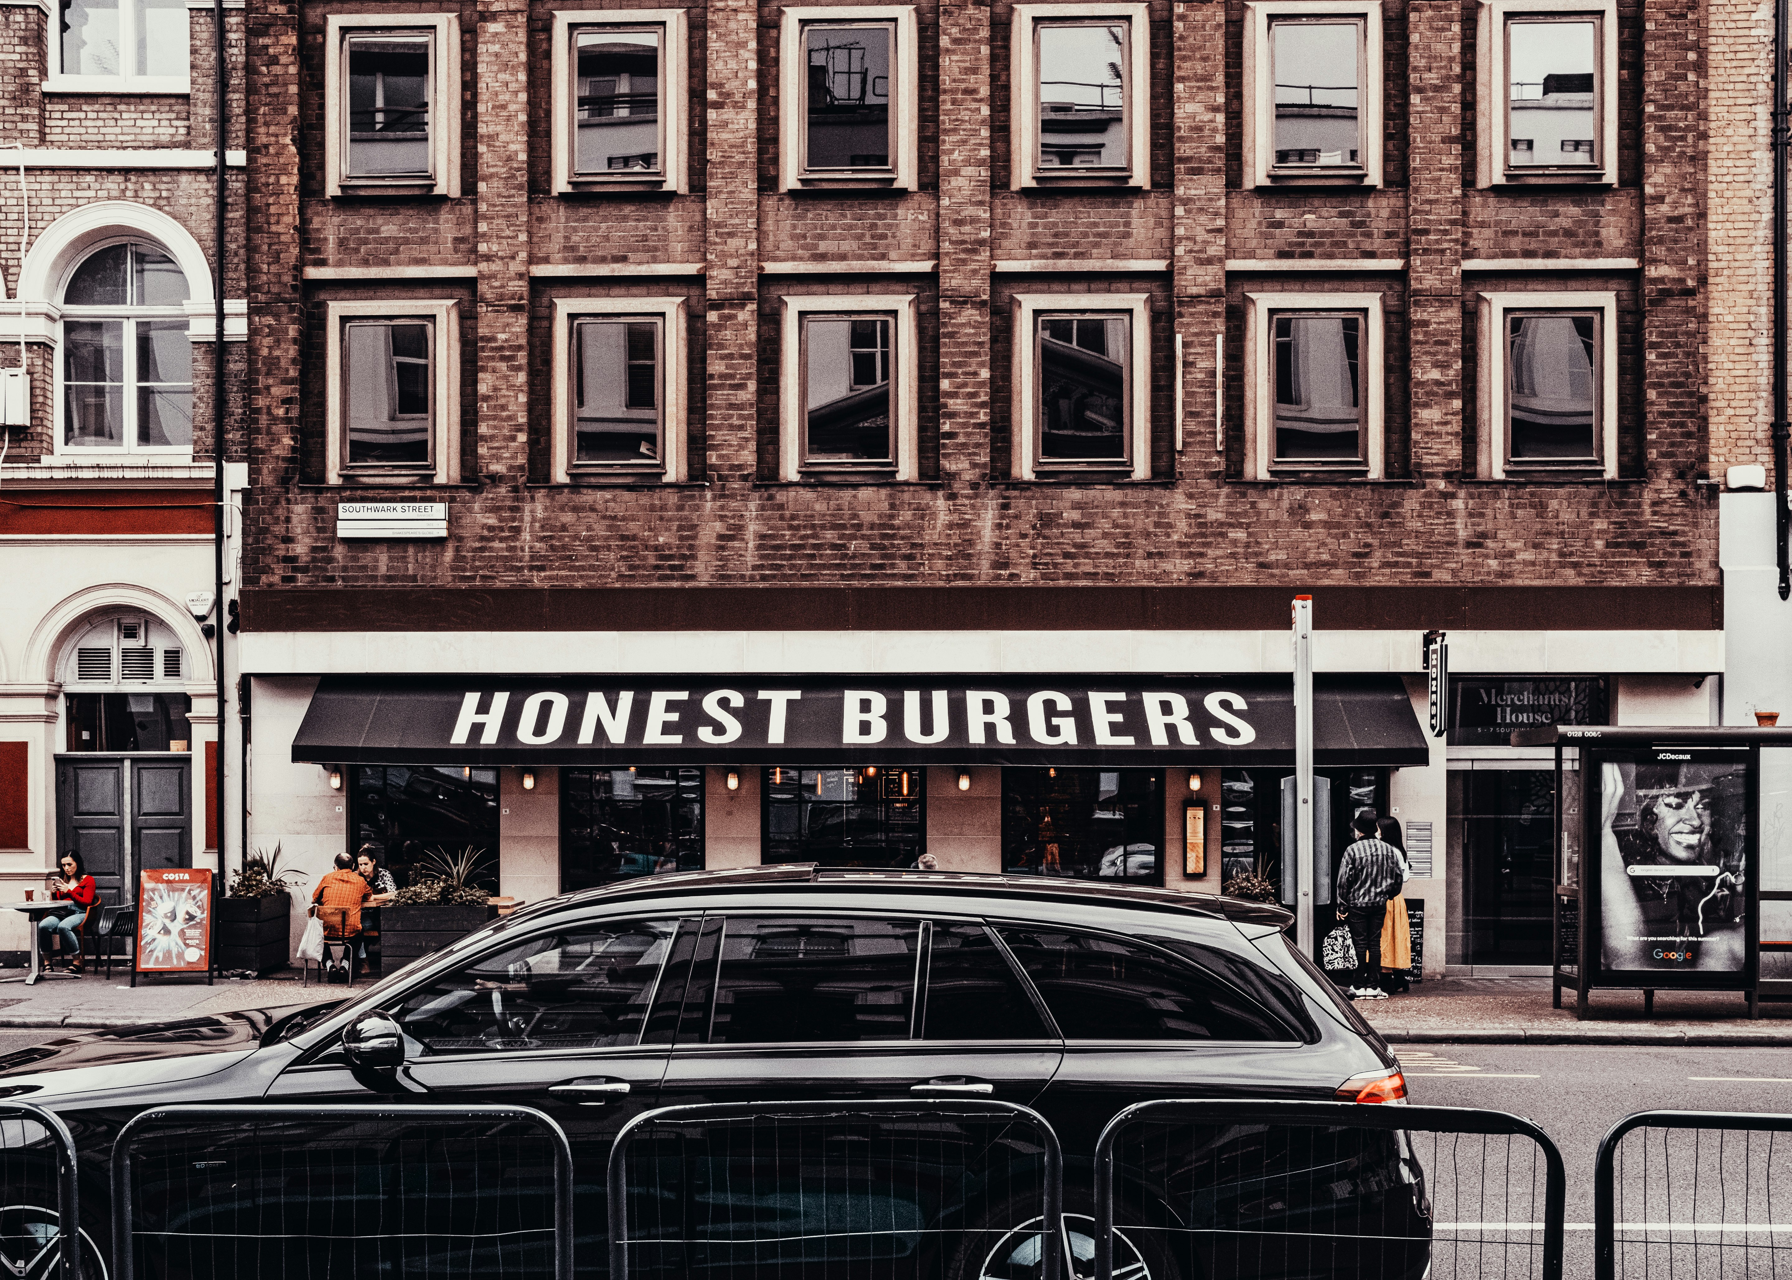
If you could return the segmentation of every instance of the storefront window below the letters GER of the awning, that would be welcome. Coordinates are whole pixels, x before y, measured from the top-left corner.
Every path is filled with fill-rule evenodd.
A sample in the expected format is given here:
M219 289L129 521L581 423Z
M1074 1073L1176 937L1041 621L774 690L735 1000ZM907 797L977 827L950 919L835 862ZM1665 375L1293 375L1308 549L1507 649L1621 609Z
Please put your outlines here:
M1002 869L1163 884L1156 769L1004 769Z

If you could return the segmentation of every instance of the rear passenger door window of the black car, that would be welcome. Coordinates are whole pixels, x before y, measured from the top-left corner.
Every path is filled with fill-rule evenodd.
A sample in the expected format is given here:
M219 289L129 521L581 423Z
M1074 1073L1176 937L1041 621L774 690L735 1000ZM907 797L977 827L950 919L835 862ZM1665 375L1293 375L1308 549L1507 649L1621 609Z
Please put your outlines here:
M919 941L909 920L731 916L710 1043L907 1040Z

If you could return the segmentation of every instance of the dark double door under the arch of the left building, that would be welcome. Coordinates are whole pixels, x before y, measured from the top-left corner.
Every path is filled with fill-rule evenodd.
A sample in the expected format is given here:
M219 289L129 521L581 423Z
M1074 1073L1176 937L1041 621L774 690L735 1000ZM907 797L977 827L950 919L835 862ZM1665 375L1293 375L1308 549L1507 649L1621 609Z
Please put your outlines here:
M109 904L131 898L133 869L194 864L188 755L56 757L56 852L79 850Z

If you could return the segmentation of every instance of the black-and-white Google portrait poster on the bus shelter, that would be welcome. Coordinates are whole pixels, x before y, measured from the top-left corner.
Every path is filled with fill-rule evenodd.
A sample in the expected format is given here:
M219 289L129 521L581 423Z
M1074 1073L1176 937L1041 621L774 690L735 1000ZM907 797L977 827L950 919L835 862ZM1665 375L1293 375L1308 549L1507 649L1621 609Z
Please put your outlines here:
M1661 748L1598 769L1604 968L1740 973L1747 753Z

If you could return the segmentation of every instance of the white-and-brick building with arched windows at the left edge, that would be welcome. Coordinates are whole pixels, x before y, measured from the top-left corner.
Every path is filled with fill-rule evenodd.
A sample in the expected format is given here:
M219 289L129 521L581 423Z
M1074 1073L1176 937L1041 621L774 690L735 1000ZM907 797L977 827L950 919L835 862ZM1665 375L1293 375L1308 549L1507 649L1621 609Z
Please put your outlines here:
M217 866L217 850L238 843L211 803L220 748L240 751L235 708L220 717L217 645L185 601L217 593L219 359L233 506L247 482L242 18L242 0L226 0L235 133L220 264L211 2L0 4L0 882L11 898L41 886L68 848L116 905L136 868ZM237 549L231 520L226 593ZM0 952L16 956L25 921L7 914Z

